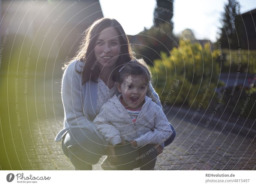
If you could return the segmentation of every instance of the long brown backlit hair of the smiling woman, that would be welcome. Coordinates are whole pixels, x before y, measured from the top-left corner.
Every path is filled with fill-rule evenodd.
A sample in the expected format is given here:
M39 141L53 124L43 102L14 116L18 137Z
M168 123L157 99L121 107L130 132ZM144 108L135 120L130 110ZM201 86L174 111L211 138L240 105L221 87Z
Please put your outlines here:
M116 67L124 64L133 59L133 53L127 36L125 35L123 27L116 19L101 18L96 20L90 27L85 30L85 36L81 41L81 44L76 52L74 58L65 65L66 68L72 61L80 60L84 62L82 72L82 82L83 84L87 81L97 81L97 78L100 76L100 69L97 66L96 58L94 55L94 48L96 46L96 41L100 33L107 27L115 28L120 41L120 52L117 61ZM96 62L96 63L95 63ZM96 66L94 65L96 64ZM95 66L94 68L92 68ZM115 68L116 69L116 68Z

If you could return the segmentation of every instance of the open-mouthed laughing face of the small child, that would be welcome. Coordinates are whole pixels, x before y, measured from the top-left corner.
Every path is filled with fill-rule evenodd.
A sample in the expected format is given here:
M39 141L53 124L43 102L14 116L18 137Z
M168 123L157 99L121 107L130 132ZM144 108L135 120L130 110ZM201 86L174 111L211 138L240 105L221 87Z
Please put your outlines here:
M142 75L124 76L123 83L117 83L117 89L123 96L123 105L132 110L139 110L144 104L148 82Z

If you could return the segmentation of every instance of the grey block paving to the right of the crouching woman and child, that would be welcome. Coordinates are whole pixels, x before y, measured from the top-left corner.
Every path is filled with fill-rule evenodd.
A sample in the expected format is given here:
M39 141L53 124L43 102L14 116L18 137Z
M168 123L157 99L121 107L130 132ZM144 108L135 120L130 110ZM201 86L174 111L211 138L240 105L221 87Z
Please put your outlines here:
M156 169L255 170L255 141L173 117L167 116L176 127L177 136L157 159Z

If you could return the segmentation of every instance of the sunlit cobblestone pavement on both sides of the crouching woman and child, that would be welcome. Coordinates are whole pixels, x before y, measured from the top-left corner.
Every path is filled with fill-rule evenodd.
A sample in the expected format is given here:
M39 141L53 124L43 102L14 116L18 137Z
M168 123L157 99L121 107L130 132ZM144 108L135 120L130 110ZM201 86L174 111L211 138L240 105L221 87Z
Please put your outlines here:
M63 115L62 105L54 105L54 116ZM60 109L56 109L56 108ZM51 108L49 108L51 109ZM57 112L58 110L58 112ZM62 128L62 117L48 115L30 129L31 139L23 137L26 153L24 170L74 170L69 159L63 154L61 143L54 137ZM156 170L255 170L255 141L234 134L189 124L179 116L167 115L176 128L176 138L158 156ZM26 135L23 133L23 135ZM93 170L102 170L100 162Z

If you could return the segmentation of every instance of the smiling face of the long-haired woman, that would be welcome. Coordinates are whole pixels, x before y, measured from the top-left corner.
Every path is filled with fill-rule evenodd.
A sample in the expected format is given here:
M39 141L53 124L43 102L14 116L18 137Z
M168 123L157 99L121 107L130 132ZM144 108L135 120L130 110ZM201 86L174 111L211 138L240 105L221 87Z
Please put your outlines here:
M103 67L115 67L120 54L120 41L115 28L107 27L99 35L94 55L100 70Z

